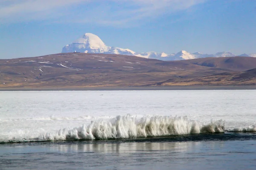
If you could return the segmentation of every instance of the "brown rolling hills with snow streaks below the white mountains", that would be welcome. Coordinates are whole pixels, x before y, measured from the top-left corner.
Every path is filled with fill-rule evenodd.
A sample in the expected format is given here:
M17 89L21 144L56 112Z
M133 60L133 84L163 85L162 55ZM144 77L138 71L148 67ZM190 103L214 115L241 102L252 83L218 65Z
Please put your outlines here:
M256 68L255 59L233 57L166 62L84 53L0 59L0 88L253 84L255 79L232 78L247 77L249 72L240 70L251 69L253 65ZM211 64L214 67L209 66Z

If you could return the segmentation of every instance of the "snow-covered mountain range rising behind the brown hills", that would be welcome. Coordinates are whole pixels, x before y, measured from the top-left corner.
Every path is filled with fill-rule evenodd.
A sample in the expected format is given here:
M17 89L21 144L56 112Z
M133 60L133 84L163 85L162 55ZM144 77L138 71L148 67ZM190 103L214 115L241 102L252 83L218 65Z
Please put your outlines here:
M164 52L157 53L154 51L138 53L128 48L111 47L105 43L95 34L86 33L81 38L75 40L73 43L62 48L62 53L80 52L80 53L96 53L96 54L120 54L128 56L137 56L148 59L159 59L163 61L175 61L185 59L198 59L205 57L256 57L256 54L241 54L235 55L231 52L218 52L216 54L202 54L199 52L189 53L181 50L177 54L166 54Z

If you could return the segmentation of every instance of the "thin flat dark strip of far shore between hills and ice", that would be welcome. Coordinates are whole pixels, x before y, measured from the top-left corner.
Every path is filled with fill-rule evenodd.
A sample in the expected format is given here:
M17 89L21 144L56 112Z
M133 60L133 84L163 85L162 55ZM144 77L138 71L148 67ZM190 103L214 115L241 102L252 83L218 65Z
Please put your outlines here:
M256 90L256 85L0 88L0 91Z

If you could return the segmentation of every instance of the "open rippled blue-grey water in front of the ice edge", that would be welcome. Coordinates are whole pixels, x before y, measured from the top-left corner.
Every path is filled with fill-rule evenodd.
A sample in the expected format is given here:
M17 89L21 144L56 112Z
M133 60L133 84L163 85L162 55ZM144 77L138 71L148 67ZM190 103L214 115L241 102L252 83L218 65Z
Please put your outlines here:
M49 167L70 170L167 170L169 167L177 170L198 170L202 167L204 169L223 169L222 167L255 169L252 168L256 154L255 140L152 141L154 139L137 142L65 141L0 145L0 164L6 168L12 164L12 169L18 170L48 169Z

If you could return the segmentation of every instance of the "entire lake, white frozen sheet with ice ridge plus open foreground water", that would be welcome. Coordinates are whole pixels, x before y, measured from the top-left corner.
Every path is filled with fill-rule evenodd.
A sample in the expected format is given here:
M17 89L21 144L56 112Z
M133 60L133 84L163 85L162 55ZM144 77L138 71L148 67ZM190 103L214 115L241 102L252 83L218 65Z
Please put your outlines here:
M256 169L256 91L0 91L0 169Z

